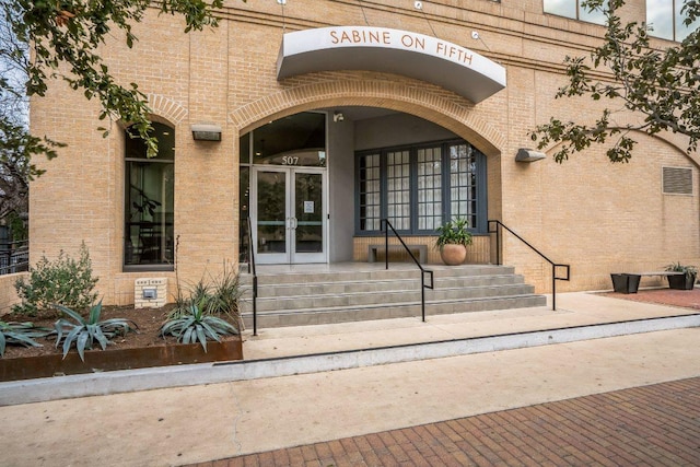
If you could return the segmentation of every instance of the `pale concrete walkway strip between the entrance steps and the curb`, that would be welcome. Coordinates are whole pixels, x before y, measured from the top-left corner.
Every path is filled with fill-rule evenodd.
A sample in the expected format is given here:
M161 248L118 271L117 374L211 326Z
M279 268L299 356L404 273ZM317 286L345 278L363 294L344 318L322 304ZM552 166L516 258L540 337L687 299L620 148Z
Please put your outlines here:
M305 355L319 352L342 352L469 339L549 329L606 325L669 316L690 316L700 311L653 303L640 303L591 292L557 295L557 311L547 306L464 313L454 315L378 319L336 325L294 328L252 329L244 332L246 360Z

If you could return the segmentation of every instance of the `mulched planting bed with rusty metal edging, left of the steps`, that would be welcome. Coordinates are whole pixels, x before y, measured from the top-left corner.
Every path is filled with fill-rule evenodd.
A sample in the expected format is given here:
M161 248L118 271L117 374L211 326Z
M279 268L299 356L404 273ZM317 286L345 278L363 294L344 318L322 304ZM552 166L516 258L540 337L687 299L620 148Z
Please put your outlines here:
M71 349L63 359L62 346L55 346L56 336L37 339L42 347L8 346L4 357L0 358L0 381L243 359L240 336L222 337L221 343L209 341L207 352L200 343L182 345L174 337L159 336L159 329L172 308L172 305L139 310L133 305L104 306L102 319L129 319L138 326L138 331L116 337L104 351L95 343L95 350L85 352L85 362L81 361L75 349ZM35 317L18 314L0 317L4 322L31 320L35 326L47 328L52 328L58 318L58 312L52 311L42 312Z

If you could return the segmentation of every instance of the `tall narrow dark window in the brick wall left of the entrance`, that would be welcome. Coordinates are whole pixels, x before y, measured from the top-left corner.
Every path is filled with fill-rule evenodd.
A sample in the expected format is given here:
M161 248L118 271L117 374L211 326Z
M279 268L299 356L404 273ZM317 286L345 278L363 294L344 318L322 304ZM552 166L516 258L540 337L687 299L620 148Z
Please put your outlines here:
M142 139L126 130L125 269L172 270L175 130L153 122L158 156L148 159Z

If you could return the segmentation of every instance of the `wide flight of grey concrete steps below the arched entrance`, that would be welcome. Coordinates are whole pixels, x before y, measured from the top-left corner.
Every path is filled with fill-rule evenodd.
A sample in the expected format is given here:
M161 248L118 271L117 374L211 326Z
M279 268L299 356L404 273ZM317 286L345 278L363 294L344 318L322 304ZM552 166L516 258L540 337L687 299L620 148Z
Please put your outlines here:
M282 327L421 315L421 272L410 265L388 270L352 264L317 272L305 270L258 271L256 311L258 326ZM427 265L433 271L433 289L425 289L425 313L542 306L546 299L534 294L510 266ZM423 277L427 285L430 277ZM244 295L241 311L246 326L253 323L253 279L241 275Z

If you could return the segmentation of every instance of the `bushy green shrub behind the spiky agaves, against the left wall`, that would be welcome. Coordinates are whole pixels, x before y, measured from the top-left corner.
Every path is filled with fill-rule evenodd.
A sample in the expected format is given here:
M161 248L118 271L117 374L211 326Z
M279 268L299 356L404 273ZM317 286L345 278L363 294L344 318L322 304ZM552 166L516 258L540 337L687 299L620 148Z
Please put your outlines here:
M12 307L13 312L36 316L38 312L50 310L54 303L70 308L86 308L95 302L97 293L93 289L97 279L92 276L92 261L88 247L80 247L78 260L61 250L52 261L42 256L30 277L18 279L14 289L22 303Z

